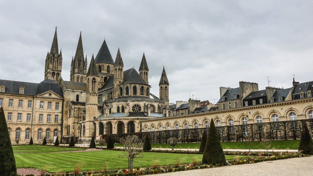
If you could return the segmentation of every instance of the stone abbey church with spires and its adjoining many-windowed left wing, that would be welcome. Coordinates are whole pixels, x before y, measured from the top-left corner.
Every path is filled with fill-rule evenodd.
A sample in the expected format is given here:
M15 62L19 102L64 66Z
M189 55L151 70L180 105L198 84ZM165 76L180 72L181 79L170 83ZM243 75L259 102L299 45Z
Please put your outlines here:
M0 106L13 143L15 139L28 143L30 137L34 143L41 143L44 137L89 140L102 134L140 132L140 120L168 116L165 69L157 97L150 93L144 53L139 73L127 66L124 69L120 49L114 61L104 41L88 66L80 34L70 65L70 81L62 79L62 60L55 29L41 83L0 80Z

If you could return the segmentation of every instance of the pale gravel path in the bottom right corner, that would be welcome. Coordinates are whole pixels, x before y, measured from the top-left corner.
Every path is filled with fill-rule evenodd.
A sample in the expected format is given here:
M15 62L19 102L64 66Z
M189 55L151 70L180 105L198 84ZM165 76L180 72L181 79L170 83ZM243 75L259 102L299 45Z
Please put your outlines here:
M231 165L219 168L207 168L172 173L157 174L160 176L302 176L313 175L313 157L289 158L275 161L264 161L253 164Z

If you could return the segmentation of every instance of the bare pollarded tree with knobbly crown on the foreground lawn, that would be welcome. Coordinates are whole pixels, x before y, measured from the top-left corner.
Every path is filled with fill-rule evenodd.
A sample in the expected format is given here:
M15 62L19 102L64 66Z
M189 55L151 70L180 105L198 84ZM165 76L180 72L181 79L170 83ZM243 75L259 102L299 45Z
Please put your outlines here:
M119 155L119 158L129 157L129 168L133 170L134 168L134 158L143 157L143 144L138 136L126 136L121 138L120 142L124 145L122 148L123 155Z

